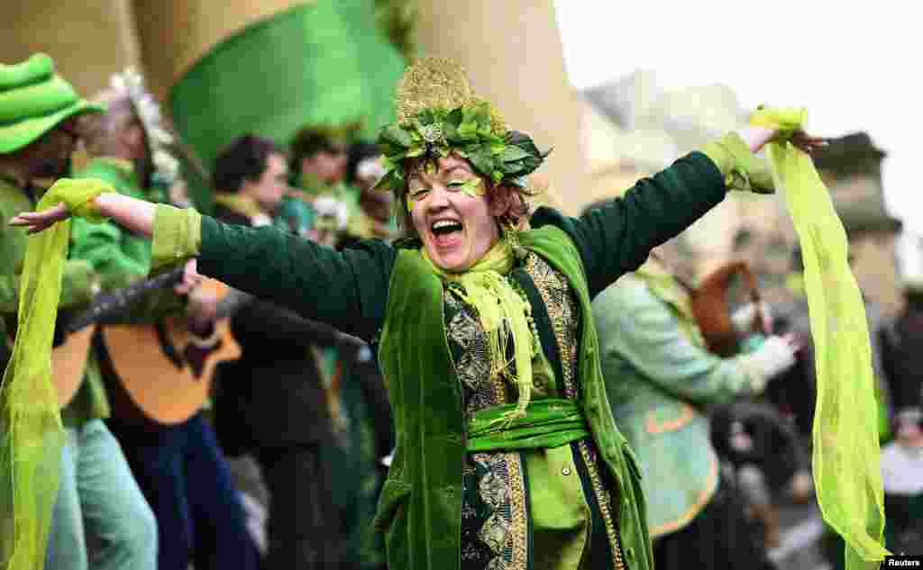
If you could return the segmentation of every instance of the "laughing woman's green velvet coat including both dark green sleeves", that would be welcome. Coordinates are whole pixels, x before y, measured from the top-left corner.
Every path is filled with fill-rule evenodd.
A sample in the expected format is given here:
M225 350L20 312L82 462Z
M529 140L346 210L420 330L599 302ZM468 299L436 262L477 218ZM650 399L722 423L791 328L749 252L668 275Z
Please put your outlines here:
M581 218L539 208L531 220L534 230L522 236L579 297L580 400L617 486L612 490L617 522L631 570L651 568L650 541L639 474L606 401L590 300L724 198L725 175L734 164L720 150L715 154L717 160L698 152L677 160ZM461 387L451 381L442 307L435 304L440 283L419 265L415 250L367 240L335 251L273 228L231 227L208 217L199 223L194 212L172 208L159 208L154 242L155 267L198 255L205 275L354 336L380 338L399 441L377 517L379 528L387 530L390 567L460 568Z

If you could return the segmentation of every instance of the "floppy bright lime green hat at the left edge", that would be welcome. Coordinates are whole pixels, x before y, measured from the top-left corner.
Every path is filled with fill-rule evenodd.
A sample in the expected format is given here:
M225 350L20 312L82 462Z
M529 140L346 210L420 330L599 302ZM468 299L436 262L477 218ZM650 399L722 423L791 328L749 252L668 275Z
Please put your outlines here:
M0 154L26 147L70 116L104 111L54 73L54 61L44 53L0 64Z

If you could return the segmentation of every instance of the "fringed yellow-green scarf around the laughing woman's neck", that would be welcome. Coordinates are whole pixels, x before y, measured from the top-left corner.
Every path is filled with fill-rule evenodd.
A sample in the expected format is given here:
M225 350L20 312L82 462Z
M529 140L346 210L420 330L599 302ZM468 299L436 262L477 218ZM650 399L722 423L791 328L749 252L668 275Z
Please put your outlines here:
M532 398L535 339L529 327L532 305L504 277L513 267L513 251L509 241L498 241L484 257L463 273L450 273L436 267L426 254L425 247L420 249L420 255L440 278L462 285L462 300L477 311L487 334L491 378L504 374L519 390L516 409L510 410L499 420L521 418ZM513 343L512 362L507 359L510 341ZM510 364L514 364L514 370L510 369Z

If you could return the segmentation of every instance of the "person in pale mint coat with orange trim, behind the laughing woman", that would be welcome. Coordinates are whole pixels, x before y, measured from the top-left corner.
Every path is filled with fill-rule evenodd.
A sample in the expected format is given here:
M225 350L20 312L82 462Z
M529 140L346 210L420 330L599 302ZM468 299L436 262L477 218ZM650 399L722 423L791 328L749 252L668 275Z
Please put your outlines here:
M735 314L741 338L752 307ZM641 459L657 568L773 568L722 481L705 408L759 395L795 364L796 340L751 335L755 350L713 354L689 291L654 259L600 293L593 317L612 414Z

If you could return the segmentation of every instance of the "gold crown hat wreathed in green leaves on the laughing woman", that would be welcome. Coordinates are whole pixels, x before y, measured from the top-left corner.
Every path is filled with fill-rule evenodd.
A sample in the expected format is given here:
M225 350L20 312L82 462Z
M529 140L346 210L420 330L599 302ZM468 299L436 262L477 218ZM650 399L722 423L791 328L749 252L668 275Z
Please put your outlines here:
M408 68L397 88L398 122L381 131L378 144L386 173L376 188L399 199L407 189L407 163L454 152L491 184L528 188L528 175L547 152L532 138L510 131L497 110L478 98L461 65L427 57Z

